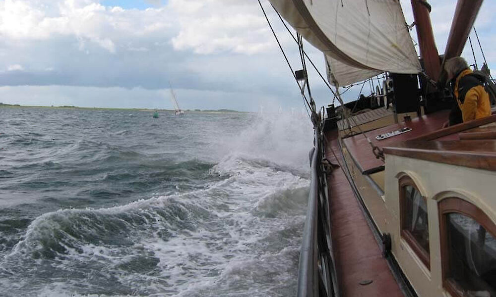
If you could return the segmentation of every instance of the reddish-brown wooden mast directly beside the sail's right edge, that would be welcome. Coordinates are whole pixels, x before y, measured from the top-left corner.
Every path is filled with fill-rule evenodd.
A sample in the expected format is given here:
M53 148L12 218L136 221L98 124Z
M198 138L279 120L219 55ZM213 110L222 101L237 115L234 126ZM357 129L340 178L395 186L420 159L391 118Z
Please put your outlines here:
M415 28L419 39L420 57L424 60L424 70L427 75L437 80L441 73L439 53L435 46L434 33L431 23L431 5L426 0L411 0Z

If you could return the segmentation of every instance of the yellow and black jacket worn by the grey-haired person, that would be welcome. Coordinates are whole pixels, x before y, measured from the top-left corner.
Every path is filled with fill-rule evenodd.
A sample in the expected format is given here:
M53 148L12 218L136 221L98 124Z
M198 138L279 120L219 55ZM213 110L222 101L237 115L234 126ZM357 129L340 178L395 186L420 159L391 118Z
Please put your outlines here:
M453 86L453 93L462 112L463 122L491 115L489 94L480 80L470 74L472 74L470 69L460 72Z

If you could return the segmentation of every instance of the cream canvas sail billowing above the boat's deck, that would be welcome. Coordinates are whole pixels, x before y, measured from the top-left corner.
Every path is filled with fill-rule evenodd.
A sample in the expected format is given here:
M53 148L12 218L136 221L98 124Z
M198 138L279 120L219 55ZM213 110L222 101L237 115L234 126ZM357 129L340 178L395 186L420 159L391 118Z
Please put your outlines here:
M324 53L331 84L422 70L399 0L269 1Z

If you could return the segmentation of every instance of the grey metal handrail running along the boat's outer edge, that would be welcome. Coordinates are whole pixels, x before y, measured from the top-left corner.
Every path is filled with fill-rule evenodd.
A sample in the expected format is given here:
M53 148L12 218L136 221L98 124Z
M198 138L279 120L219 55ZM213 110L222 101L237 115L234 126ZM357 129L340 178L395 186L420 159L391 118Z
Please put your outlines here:
M298 297L337 297L330 236L330 213L326 175L322 167L322 134L315 128L311 156L311 181L298 271Z

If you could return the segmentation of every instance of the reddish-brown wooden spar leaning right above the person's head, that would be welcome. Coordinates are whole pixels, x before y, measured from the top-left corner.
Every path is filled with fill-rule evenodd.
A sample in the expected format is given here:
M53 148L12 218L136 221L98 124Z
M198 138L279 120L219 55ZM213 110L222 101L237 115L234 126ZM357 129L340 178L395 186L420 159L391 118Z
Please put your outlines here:
M414 0L412 0L414 1ZM470 30L483 0L458 0L444 50L444 60L459 56L467 43ZM444 63L443 60L443 63Z

